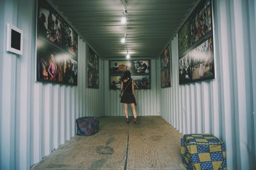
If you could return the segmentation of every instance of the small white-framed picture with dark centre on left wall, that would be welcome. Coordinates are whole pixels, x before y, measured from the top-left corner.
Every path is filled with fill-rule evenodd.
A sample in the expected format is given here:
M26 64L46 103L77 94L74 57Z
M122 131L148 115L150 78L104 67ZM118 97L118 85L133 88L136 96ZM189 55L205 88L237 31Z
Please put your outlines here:
M6 50L19 55L23 54L23 31L10 24L7 24Z

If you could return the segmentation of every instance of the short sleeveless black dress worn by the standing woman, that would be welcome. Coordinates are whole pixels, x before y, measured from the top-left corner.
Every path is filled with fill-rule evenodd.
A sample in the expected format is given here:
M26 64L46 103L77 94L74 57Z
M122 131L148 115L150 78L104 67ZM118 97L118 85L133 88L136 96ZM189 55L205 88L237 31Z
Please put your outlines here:
M125 89L125 88L126 89L124 91L123 96L121 97L120 103L127 103L127 104L134 103L135 105L137 105L135 97L132 94L132 79L130 79L126 82L124 82L124 80L121 80L121 81L123 82L123 89Z

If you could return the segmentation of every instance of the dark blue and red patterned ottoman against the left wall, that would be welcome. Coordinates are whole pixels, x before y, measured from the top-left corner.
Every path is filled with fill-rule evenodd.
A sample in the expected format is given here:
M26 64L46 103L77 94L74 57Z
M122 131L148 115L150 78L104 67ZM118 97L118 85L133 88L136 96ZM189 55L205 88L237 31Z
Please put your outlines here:
M99 117L81 117L76 120L78 135L89 136L99 132Z

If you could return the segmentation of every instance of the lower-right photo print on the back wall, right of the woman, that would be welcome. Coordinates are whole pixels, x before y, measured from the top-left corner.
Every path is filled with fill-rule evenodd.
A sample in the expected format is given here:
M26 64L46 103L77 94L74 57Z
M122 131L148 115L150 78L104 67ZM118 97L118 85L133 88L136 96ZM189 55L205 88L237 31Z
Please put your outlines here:
M150 76L143 75L143 76L132 76L134 81L134 88L135 89L150 89Z

